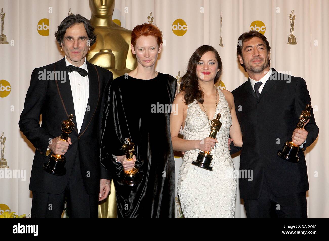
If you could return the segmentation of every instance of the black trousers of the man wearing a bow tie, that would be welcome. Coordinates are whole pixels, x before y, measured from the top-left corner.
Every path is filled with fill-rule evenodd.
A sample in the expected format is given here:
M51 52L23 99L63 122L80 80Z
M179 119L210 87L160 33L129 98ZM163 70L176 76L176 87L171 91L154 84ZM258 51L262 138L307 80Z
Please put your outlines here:
M56 185L50 183L49 185ZM84 187L77 155L65 190L60 194L32 192L31 218L61 218L66 207L69 218L98 218L98 195L89 195Z

